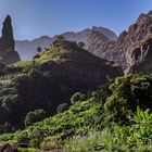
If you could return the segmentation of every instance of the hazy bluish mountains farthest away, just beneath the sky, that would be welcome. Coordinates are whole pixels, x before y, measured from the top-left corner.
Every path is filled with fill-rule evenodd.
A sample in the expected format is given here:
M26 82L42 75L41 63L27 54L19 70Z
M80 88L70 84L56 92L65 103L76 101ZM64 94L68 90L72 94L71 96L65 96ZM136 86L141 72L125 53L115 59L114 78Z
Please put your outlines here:
M89 37L91 35L96 35L103 41L113 41L117 39L117 36L110 29L104 27L96 27L93 26L91 29L87 28L83 31L74 33L67 31L63 33L64 37L69 41L83 41L86 43L86 49L90 47ZM29 40L16 40L15 41L15 50L20 53L22 60L29 60L36 54L36 48L48 48L53 40L55 40L58 36L53 38L49 36L42 36L40 38Z

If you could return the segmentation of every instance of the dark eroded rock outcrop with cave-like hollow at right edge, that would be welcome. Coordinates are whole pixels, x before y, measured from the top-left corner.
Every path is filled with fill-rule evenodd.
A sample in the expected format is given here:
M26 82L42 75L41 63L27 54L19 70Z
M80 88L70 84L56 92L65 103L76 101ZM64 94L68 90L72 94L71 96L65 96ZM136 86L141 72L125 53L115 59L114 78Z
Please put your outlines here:
M152 73L152 38L147 39L140 47L132 50L130 64L127 73Z

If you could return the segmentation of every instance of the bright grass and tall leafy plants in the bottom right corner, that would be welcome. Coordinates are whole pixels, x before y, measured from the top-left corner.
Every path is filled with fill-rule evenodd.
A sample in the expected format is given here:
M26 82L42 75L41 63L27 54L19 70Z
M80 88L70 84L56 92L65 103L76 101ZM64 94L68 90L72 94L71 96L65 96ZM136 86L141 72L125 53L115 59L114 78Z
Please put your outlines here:
M65 151L96 152L96 148L102 151L151 151L152 147L152 114L137 109L130 119L129 126L105 127L101 131L90 131L88 137L76 137L64 144Z

